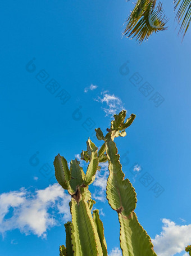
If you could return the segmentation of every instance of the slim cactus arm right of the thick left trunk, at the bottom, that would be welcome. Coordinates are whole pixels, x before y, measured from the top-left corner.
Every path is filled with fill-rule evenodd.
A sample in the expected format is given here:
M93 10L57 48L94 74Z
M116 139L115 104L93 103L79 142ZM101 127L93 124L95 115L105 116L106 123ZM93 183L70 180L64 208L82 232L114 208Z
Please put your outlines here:
M93 211L93 221L94 221L95 227L97 228L97 231L98 231L99 240L102 245L103 256L107 256L107 244L106 244L106 239L104 237L103 223L102 223L101 219L99 218L99 210Z

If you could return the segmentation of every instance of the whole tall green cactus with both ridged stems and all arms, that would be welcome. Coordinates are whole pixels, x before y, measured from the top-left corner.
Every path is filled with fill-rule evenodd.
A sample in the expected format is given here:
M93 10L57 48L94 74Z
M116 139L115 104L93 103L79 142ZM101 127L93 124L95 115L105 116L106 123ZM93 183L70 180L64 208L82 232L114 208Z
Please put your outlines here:
M95 201L91 199L88 186L94 181L99 163L108 161L110 174L107 180L107 200L113 210L116 210L120 222L120 246L123 256L157 256L147 232L140 226L134 209L137 197L129 179L124 179L117 154L115 137L126 136L125 129L135 119L131 115L125 121L126 111L114 115L115 120L107 128L106 136L100 128L95 129L98 140L103 140L99 149L90 139L87 141L87 151L81 152L81 159L88 164L84 173L78 160L72 160L70 170L67 161L59 154L54 160L55 175L58 183L71 195L70 211L72 221L65 224L66 247L60 246L60 256L107 256L107 244L104 237L103 223L99 211L91 212Z

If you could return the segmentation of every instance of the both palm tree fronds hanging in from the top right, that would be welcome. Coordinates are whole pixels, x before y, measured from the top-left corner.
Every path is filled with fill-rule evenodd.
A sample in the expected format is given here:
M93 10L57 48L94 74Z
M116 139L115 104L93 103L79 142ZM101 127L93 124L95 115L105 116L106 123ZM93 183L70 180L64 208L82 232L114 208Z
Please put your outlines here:
M124 31L126 37L134 38L142 43L155 32L166 30L167 17L163 11L162 3L157 0L138 0L134 10L127 20ZM179 33L183 33L183 38L191 21L191 0L175 0L175 10L179 7L176 14L178 23L181 23Z

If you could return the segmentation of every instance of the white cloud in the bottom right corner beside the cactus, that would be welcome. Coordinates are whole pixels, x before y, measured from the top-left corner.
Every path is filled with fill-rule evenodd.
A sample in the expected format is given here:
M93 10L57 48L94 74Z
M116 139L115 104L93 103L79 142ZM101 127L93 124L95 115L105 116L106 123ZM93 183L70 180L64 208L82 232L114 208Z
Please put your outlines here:
M184 252L191 241L191 224L180 226L170 219L162 219L162 223L162 232L152 240L157 255L173 256Z

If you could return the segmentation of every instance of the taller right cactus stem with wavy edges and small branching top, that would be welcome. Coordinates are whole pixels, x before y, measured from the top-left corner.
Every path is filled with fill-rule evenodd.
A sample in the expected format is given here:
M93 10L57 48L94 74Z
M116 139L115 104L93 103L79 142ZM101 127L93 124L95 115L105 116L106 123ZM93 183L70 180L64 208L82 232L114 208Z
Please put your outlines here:
M111 128L103 136L101 129L95 129L98 140L106 143L106 155L108 158L108 169L110 175L107 180L106 194L108 203L116 210L120 222L120 246L123 256L156 256L153 251L151 238L140 226L134 209L137 196L129 179L124 179L120 164L120 156L117 154L115 137L125 136L125 129L133 123L135 115L131 114L125 122L126 111L114 115L115 120L111 122Z

